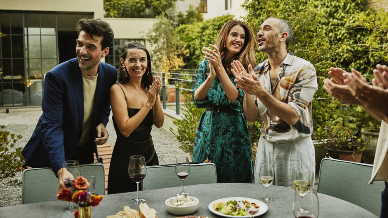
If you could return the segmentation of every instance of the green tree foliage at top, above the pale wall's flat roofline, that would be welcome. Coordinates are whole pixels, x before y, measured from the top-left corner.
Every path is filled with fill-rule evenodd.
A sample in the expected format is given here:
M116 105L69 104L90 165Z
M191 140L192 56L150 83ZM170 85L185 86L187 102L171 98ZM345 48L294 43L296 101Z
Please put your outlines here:
M177 0L104 0L105 17L155 18L174 11Z

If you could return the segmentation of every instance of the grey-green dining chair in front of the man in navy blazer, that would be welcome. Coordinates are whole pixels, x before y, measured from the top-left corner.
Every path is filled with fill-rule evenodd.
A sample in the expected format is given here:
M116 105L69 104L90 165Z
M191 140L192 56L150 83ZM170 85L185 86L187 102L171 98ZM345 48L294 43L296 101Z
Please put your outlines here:
M105 172L101 163L81 164L81 176L89 182L96 176L95 192L105 195ZM21 185L21 204L57 200L58 178L49 167L28 168L23 171Z

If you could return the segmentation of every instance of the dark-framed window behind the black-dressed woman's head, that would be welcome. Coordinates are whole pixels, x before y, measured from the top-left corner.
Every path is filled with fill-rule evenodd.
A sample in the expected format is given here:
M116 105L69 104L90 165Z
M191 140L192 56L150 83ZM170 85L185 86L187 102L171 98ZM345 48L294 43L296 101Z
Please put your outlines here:
M114 66L117 70L119 70L120 67L120 56L121 56L121 49L127 42L140 42L144 46L145 39L114 39L113 45L109 47L109 53L105 56L105 63L110 64Z

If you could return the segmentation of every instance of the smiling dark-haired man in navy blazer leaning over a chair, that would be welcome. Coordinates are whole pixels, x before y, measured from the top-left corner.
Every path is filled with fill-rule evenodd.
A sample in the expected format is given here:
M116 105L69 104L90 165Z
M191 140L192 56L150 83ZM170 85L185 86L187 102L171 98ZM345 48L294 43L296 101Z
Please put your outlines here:
M58 188L66 160L93 163L97 145L107 141L109 90L117 71L100 62L109 52L113 31L101 19L83 18L77 24L77 58L49 71L44 80L43 114L22 154L28 167L52 167ZM97 145L96 145L97 144Z

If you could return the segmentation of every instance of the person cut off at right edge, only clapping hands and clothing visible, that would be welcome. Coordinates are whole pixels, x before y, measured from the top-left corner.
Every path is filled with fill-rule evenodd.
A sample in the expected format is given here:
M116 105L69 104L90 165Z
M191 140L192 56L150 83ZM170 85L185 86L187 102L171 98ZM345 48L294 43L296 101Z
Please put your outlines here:
M352 74L340 68L330 68L331 79L325 79L324 89L341 102L361 105L373 117L381 120L379 139L373 163L370 184L375 180L385 181L382 192L381 218L388 217L388 67L377 65L373 71L375 79L368 85L365 78L355 69Z

